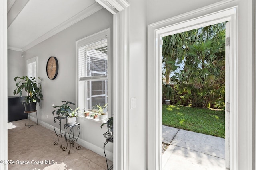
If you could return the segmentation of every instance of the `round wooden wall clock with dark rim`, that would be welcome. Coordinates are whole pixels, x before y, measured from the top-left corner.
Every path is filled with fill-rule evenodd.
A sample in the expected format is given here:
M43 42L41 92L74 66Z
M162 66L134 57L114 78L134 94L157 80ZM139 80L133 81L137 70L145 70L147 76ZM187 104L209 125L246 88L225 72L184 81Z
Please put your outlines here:
M57 77L59 64L56 57L50 57L46 64L46 72L49 79L53 80Z

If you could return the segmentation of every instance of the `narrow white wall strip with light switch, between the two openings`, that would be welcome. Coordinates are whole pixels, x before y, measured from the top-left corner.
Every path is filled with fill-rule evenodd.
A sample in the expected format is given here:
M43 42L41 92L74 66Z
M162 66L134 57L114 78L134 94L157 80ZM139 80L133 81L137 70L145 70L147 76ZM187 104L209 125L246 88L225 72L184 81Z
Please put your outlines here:
M130 98L136 98L136 108L130 109L129 164L130 170L145 170L147 155L146 139L146 68L147 68L147 21L144 1L130 3Z

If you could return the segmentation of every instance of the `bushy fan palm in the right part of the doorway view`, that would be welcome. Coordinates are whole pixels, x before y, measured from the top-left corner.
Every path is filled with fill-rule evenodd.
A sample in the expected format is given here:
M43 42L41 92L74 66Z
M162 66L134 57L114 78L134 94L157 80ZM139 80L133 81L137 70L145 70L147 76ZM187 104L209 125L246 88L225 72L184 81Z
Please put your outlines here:
M224 97L220 96L225 79L223 74L223 63L225 62L223 35L225 35L224 30L207 41L196 41L192 45L188 45L185 72L180 76L186 77L181 83L182 86L190 87L187 97L189 96L194 107L209 107L211 102ZM206 35L201 37L205 38Z

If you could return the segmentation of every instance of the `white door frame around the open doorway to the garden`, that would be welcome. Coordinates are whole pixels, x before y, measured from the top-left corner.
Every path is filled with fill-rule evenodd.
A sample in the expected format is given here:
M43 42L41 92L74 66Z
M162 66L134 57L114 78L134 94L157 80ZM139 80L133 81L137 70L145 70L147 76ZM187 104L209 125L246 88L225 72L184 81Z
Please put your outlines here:
M230 21L230 164L238 168L237 6L225 2L148 26L148 170L162 170L162 57L160 39L207 25Z

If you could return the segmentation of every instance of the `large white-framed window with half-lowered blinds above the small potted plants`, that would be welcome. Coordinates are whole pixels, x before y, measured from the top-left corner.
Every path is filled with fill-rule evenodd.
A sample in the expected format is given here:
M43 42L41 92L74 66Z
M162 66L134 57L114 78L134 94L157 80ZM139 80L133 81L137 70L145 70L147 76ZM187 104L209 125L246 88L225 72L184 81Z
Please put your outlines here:
M89 110L108 103L109 108L110 29L76 41L76 49L78 107Z

